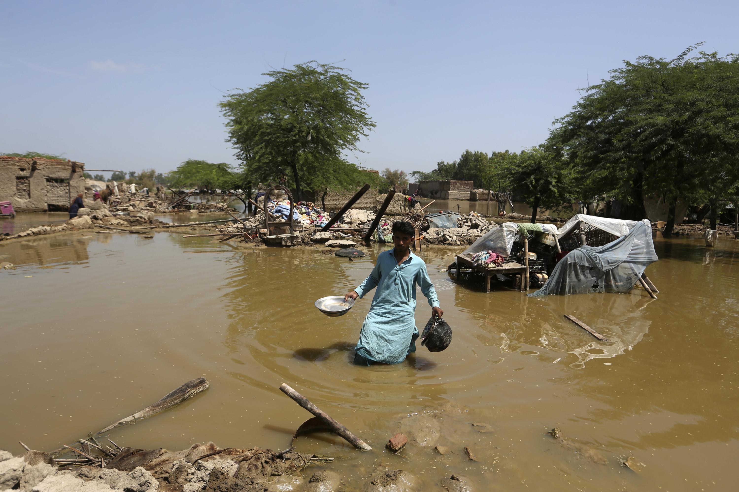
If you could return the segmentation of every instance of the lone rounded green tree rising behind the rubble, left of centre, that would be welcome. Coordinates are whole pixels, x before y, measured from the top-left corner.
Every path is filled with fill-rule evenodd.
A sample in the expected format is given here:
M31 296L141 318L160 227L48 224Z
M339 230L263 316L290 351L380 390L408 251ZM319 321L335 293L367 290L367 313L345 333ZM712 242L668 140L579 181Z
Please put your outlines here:
M361 152L358 142L375 127L358 82L338 66L310 61L267 72L250 91L220 103L228 142L255 179L270 181L290 170L296 199L302 189L349 189L367 179L345 159Z

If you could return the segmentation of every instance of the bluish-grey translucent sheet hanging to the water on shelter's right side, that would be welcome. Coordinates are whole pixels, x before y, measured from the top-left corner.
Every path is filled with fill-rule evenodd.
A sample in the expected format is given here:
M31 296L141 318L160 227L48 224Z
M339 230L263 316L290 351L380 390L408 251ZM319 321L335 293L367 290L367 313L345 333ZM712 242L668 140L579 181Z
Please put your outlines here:
M652 226L644 219L636 222L627 235L605 246L580 246L569 252L556 264L547 283L528 295L629 292L644 269L657 260Z

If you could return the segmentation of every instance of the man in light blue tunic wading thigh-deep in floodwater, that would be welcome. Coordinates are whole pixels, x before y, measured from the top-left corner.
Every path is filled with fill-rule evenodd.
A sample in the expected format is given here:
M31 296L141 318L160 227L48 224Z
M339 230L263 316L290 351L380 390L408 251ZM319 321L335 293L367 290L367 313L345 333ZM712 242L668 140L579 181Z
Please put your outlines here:
M409 249L414 234L413 226L408 222L393 223L392 243L395 248L381 252L369 277L344 296L344 301L364 297L377 287L354 349L354 364L398 364L409 353L415 352L415 339L418 338L414 317L416 284L429 299L432 316L443 316L436 289L426 272L426 263Z

